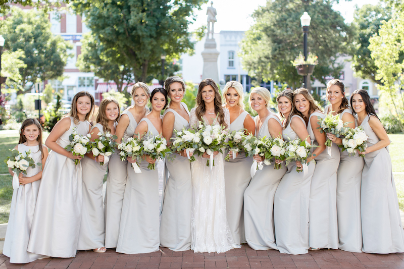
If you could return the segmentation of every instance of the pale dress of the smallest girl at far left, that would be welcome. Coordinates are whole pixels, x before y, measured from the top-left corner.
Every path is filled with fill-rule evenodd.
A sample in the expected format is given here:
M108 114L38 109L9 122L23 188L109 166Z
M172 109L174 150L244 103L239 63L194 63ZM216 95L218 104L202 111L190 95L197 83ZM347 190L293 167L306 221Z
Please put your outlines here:
M39 146L26 146L19 144L18 151L25 156L31 150L34 164L42 163L42 154ZM24 177L32 177L41 172L40 166L27 168ZM13 191L11 199L9 224L7 225L3 254L10 257L10 263L28 263L44 256L27 252L31 223L34 217L36 198L41 180L20 185Z

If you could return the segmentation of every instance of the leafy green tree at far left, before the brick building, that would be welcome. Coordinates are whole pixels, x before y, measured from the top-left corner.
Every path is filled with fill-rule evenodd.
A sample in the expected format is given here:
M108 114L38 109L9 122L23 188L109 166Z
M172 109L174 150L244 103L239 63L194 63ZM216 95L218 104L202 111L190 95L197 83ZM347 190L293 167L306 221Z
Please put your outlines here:
M70 42L51 32L47 15L34 10L12 8L11 16L1 21L0 29L6 43L4 49L24 51L19 59L26 67L19 68L21 87L31 90L38 81L56 79L63 75ZM23 90L18 89L18 94Z

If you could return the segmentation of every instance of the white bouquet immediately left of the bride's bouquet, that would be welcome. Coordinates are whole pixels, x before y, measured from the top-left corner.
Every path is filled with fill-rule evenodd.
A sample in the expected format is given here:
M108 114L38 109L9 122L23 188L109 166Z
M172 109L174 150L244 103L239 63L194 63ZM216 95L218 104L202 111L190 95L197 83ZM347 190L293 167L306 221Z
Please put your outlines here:
M200 133L192 129L186 130L185 127L183 127L182 131L174 130L174 134L176 137L171 137L171 139L174 140L171 144L171 149L178 152L185 149L189 162L192 163L195 157L193 155L189 156L189 153L192 153L198 148Z

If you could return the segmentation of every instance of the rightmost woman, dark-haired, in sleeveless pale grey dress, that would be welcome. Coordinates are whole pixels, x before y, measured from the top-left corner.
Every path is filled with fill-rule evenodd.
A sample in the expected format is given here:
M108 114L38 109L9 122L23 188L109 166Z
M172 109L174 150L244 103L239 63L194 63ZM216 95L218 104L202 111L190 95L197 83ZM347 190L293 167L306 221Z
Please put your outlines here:
M352 92L350 105L358 125L369 136L365 152L359 152L365 154L361 187L362 251L404 252L404 231L387 149L390 140L366 90Z

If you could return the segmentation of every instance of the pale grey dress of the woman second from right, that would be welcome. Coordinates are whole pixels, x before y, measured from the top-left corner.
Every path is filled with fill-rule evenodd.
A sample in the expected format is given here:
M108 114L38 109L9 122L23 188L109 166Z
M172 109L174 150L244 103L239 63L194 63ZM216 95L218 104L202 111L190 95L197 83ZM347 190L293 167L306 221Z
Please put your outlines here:
M325 111L328 112L328 106ZM341 120L345 113L352 111L342 111ZM346 150L338 149L341 156L337 172L338 248L362 252L361 179L365 162L360 156L349 156Z

